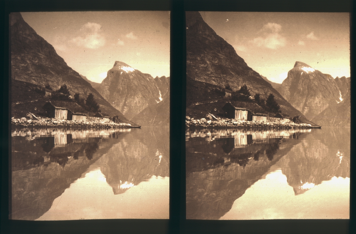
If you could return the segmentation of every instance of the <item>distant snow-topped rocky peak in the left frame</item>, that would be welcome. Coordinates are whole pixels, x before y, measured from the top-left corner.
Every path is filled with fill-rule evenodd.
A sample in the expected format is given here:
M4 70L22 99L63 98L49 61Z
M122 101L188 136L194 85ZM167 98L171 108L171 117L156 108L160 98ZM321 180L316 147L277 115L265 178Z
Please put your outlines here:
M119 61L108 71L98 90L105 100L129 119L162 98L150 74Z

